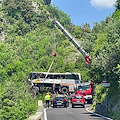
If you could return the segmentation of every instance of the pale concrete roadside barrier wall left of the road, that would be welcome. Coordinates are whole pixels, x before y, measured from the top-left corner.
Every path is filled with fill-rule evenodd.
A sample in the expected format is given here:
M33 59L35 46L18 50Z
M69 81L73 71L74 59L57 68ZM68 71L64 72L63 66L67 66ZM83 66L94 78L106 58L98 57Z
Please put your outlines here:
M42 100L38 100L38 106L40 107L36 112L36 114L28 118L28 120L44 120L44 107L43 107Z

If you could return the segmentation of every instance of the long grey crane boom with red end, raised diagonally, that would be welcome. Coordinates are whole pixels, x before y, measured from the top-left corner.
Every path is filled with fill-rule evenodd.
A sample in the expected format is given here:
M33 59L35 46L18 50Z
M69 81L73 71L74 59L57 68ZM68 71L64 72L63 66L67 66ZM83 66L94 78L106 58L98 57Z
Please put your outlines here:
M91 60L92 60L91 56L89 56L89 55L80 47L80 44L78 43L78 41L77 41L74 37L72 37L72 36L70 35L70 33L67 32L67 30L66 30L56 19L52 20L52 23L55 24L55 25L69 38L69 40L73 43L73 45L77 48L77 50L84 56L86 62L87 62L88 64L90 64L90 63L91 63Z

